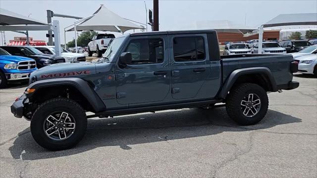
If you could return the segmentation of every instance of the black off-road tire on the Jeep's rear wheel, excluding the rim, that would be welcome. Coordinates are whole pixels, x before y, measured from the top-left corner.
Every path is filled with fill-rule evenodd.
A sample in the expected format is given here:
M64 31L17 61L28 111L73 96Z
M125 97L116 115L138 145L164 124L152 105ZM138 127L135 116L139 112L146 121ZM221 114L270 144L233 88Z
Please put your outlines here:
M247 117L243 114L243 106L241 101L248 94L256 94L259 96L261 105L260 110L253 117ZM266 91L256 84L245 83L241 84L234 89L230 90L229 95L226 99L226 110L229 117L240 125L254 125L260 122L268 108L268 97Z

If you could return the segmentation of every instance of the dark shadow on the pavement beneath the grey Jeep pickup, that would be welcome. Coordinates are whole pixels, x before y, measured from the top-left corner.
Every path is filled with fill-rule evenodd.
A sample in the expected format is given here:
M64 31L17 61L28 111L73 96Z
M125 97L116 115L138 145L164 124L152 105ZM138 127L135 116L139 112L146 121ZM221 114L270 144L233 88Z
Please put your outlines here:
M273 110L268 110L265 118L254 126L237 125L228 117L225 108L169 110L156 114L90 119L83 140L74 148L62 151L42 148L27 128L18 134L9 151L14 159L37 160L74 155L98 147L119 146L129 150L141 143L212 136L223 132L239 134L299 122L302 122L299 118Z

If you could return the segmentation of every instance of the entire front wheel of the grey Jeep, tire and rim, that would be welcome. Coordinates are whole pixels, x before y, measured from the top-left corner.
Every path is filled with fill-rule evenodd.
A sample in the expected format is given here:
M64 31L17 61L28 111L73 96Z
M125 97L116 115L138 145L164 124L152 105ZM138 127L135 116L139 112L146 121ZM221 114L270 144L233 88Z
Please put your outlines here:
M68 98L54 98L41 104L31 119L31 134L35 141L49 150L75 146L87 129L84 109Z

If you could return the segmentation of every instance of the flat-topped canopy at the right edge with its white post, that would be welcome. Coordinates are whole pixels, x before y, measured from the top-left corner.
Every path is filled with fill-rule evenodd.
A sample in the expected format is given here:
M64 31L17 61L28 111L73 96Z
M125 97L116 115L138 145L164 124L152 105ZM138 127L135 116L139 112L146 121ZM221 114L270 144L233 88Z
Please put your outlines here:
M262 53L263 28L289 25L317 25L317 13L280 14L259 29L259 53Z

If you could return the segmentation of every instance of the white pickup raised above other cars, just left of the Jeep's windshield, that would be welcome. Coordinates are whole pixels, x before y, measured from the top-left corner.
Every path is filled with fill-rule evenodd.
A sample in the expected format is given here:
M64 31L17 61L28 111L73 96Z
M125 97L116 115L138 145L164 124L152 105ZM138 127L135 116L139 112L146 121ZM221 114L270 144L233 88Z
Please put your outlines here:
M88 43L88 56L92 56L93 53L97 53L98 57L106 51L111 39L114 39L113 34L97 34L91 42Z

